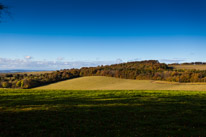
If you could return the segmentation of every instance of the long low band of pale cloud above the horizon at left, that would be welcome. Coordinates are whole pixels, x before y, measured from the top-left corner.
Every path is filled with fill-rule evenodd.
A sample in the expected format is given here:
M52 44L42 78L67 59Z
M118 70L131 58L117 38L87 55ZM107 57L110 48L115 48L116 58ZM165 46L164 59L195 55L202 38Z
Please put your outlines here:
M115 64L116 61L34 61L28 59L0 58L0 69L32 69L32 70L57 70L81 67L95 67L98 65Z

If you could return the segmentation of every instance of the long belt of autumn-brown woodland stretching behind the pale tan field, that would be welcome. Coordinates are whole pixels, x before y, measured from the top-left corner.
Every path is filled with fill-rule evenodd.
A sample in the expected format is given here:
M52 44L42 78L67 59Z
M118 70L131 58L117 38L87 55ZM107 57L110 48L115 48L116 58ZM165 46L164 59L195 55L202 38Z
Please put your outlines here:
M109 76L124 79L206 82L206 70L175 70L156 60L114 65L64 69L42 74L0 74L0 88L33 88L83 76Z

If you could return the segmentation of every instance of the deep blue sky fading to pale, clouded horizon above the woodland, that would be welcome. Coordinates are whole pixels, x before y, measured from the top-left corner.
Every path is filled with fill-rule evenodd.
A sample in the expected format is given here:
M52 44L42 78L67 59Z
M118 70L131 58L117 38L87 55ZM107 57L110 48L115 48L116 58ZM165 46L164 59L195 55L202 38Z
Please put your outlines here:
M0 0L0 69L206 62L205 0Z

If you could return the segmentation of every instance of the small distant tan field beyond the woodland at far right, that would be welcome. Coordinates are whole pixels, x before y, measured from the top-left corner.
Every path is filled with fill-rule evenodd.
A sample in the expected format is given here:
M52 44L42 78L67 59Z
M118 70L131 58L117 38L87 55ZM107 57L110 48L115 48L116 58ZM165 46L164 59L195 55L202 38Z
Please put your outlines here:
M206 65L169 65L175 69L197 69L197 70L206 70Z

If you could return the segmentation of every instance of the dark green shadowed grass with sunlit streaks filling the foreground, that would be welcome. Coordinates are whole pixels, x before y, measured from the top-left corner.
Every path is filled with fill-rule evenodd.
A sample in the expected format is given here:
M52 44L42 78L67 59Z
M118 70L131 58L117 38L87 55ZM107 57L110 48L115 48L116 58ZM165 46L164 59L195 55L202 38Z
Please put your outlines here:
M0 90L0 136L205 136L203 91Z

